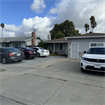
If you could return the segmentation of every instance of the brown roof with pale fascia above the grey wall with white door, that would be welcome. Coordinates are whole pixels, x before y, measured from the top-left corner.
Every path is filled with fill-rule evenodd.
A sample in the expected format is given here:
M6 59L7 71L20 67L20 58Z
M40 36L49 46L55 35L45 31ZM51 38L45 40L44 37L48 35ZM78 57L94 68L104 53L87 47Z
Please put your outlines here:
M76 36L69 36L65 37L65 39L76 39L76 38L101 38L105 37L105 33L87 33L82 35L76 35Z

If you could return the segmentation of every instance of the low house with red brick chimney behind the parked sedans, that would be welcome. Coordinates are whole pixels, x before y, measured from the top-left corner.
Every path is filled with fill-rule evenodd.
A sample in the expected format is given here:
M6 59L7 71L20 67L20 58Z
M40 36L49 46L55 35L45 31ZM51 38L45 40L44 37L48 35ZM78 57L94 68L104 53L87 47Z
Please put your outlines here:
M42 40L35 37L35 32L32 32L31 37L3 37L0 38L0 47L18 47L18 46L37 46Z

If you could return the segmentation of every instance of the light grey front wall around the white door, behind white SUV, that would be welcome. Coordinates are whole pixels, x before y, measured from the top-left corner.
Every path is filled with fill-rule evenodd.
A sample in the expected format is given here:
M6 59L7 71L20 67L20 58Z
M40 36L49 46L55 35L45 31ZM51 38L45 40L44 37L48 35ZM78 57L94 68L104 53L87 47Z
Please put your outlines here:
M70 43L79 43L78 55L79 55L79 58L81 58L81 56L83 55L83 51L87 51L89 49L90 42L104 42L105 43L105 38L71 39L68 41L69 41L69 44ZM68 47L68 53L69 53L69 56L71 56L70 55L70 53L71 53L70 46Z

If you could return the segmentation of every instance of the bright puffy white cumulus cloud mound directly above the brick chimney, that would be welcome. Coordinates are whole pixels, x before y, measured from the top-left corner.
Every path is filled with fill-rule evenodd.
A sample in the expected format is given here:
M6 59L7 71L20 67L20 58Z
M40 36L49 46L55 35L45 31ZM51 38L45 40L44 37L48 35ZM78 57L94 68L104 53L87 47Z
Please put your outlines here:
M49 25L51 24L51 20L48 17L34 17L29 19L23 19L22 21L22 29L21 32L24 33L25 36L28 36L33 31L32 28L36 30L36 36L40 36L42 39L47 39L47 35L52 27Z

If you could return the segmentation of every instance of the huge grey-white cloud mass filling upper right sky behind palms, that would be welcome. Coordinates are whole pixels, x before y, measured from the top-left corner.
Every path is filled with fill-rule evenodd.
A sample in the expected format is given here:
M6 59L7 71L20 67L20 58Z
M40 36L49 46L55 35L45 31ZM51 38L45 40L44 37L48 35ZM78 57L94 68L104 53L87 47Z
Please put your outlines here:
M55 6L49 10L49 13L52 15L57 14L56 19L52 22L53 24L70 20L73 21L76 29L85 33L84 24L90 24L89 18L91 16L95 16L98 25L105 21L105 1L60 0L60 2L56 3Z

